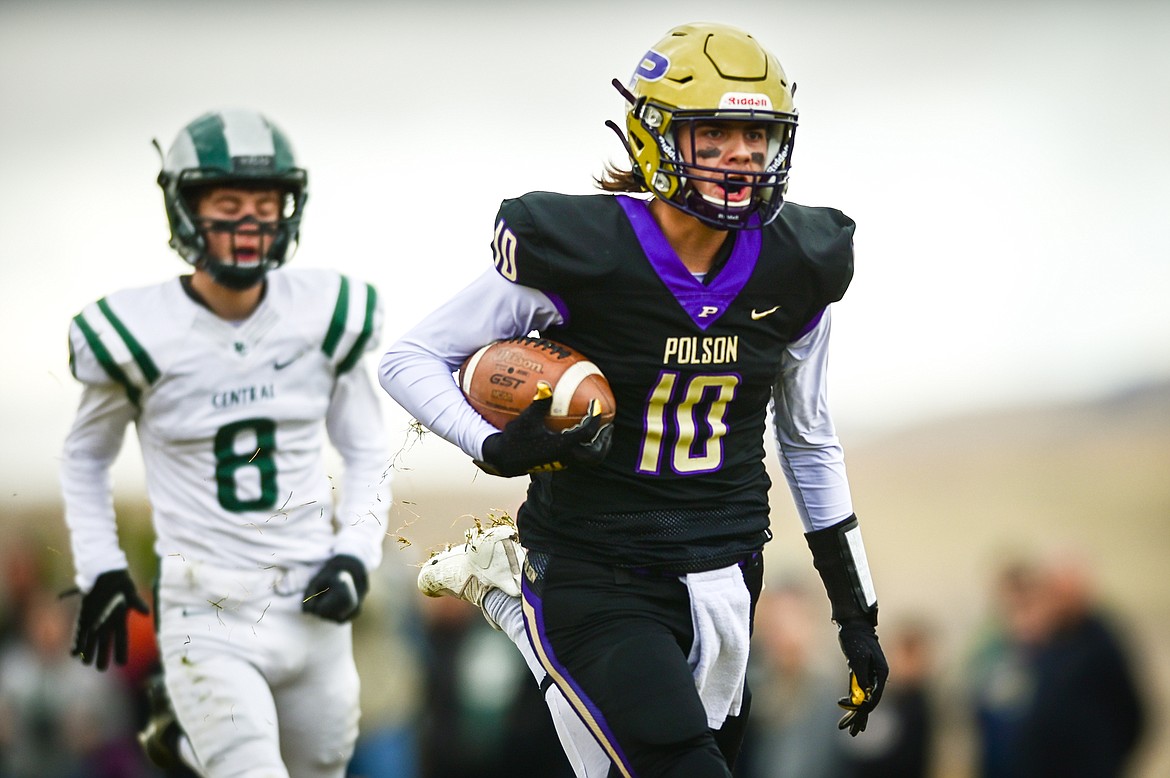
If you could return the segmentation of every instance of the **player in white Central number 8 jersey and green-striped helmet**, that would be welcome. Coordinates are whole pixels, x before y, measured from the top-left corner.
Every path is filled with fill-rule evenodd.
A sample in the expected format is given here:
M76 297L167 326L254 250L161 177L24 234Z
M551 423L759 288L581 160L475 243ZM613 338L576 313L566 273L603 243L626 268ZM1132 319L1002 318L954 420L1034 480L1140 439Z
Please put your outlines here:
M340 778L358 734L350 620L381 560L390 505L363 360L381 308L370 284L282 268L307 175L260 113L191 122L158 181L171 247L193 271L110 294L69 331L83 385L61 468L82 592L73 653L98 669L124 663L128 611L147 611L110 488L133 424L178 720L152 721L147 753L165 763L178 752L212 777ZM326 468L326 436L340 478Z

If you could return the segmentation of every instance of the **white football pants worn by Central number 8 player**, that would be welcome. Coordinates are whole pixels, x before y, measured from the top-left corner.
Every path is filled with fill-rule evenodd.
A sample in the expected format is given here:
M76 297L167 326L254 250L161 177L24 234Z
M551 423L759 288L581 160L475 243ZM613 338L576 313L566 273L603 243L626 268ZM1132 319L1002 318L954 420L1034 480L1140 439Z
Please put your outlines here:
M315 569L163 559L159 650L207 778L343 778L358 736L349 624L301 612Z

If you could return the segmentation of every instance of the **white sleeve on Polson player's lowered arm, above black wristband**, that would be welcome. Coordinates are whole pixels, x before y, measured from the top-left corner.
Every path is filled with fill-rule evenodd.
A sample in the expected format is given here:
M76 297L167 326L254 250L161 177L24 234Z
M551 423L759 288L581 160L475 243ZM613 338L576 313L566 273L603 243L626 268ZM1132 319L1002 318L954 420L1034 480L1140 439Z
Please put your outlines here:
M845 453L828 412L830 312L789 345L772 387L772 425L784 477L806 532L853 514Z

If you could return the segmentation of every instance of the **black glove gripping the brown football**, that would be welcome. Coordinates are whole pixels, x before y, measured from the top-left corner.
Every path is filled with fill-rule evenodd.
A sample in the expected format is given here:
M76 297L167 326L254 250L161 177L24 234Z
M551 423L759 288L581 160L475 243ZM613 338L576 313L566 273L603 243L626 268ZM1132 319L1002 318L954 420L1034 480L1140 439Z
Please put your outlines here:
M605 459L613 441L613 425L601 424L601 404L590 402L590 413L564 432L544 425L552 406L552 391L537 384L536 399L494 435L483 441L483 459L475 460L491 475L511 477L525 473L563 470L570 466L592 466Z

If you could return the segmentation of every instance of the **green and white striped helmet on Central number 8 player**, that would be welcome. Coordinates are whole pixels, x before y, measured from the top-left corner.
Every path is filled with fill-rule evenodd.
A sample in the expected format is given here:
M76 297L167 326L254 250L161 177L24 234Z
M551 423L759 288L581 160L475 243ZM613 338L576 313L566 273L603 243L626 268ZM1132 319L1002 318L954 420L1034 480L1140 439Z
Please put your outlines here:
M262 115L250 110L204 113L179 132L158 175L171 225L171 248L225 287L247 289L296 250L308 180L308 173L296 165L288 137ZM195 197L208 186L277 188L284 195L281 215L271 225L253 218L199 219ZM240 267L230 259L208 254L208 230L234 233L241 226L271 236L269 250L259 263Z

